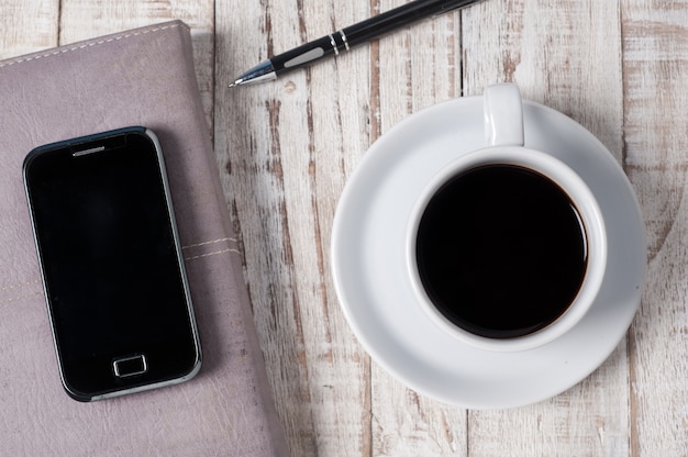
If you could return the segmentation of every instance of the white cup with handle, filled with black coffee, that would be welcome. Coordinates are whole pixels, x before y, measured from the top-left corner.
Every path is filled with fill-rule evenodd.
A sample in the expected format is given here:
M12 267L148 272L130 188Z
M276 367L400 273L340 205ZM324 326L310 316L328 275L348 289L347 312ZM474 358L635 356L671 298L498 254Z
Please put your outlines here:
M435 175L413 207L407 270L439 331L526 350L570 331L602 286L607 233L581 177L525 146L515 85L484 93L487 147Z

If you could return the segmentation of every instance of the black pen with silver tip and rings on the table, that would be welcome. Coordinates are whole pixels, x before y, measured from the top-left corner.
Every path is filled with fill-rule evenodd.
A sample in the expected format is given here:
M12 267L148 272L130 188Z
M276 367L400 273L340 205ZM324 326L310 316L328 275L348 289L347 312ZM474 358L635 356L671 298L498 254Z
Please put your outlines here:
M415 0L393 10L380 13L363 22L344 27L339 32L301 45L284 54L271 57L249 69L230 87L275 79L284 73L306 67L341 51L369 42L397 29L421 19L439 15L457 8L476 3L479 0Z

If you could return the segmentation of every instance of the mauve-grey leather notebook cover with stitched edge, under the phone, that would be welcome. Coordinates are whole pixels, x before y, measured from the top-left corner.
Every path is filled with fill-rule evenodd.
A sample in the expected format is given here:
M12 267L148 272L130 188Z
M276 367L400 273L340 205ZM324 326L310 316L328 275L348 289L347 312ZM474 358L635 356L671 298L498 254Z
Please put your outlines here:
M288 455L179 21L0 62L0 455ZM143 125L163 148L203 364L192 380L64 392L22 181L36 146Z

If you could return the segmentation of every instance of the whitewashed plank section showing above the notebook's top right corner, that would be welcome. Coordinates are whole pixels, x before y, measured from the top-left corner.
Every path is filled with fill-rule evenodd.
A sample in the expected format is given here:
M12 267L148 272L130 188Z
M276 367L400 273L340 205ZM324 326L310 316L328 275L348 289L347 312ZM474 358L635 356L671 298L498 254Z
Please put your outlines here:
M181 19L191 27L196 76L210 129L213 123L214 97L213 0L65 1L60 12L59 44L74 43L173 19Z

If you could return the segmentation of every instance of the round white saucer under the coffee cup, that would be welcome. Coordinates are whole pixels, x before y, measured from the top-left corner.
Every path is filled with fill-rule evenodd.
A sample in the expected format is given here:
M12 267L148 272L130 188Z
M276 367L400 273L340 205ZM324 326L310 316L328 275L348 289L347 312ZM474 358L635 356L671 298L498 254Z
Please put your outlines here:
M523 102L525 146L575 169L600 204L608 270L586 316L566 335L531 350L496 353L459 342L414 299L404 266L413 205L443 166L486 147L482 98L420 111L366 153L340 200L332 272L342 309L371 357L418 392L470 409L525 405L558 394L592 372L625 334L645 276L643 220L619 164L564 114Z

